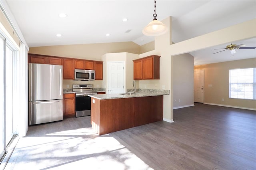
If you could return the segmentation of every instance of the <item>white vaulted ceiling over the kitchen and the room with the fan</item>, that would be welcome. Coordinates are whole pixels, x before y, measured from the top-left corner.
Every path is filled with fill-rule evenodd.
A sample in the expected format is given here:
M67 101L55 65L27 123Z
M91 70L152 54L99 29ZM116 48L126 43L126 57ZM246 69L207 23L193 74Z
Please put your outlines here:
M6 1L29 47L106 42L151 42L142 29L152 21L153 0ZM60 18L59 14L67 14ZM172 16L177 43L256 18L255 0L156 0L158 20ZM128 21L122 20L127 18ZM246 32L246 29L244 30ZM56 34L62 34L56 37ZM110 36L106 36L110 34ZM241 34L243 34L241 32ZM256 39L230 42L256 46ZM256 49L212 54L229 44L191 52L195 65L256 57Z

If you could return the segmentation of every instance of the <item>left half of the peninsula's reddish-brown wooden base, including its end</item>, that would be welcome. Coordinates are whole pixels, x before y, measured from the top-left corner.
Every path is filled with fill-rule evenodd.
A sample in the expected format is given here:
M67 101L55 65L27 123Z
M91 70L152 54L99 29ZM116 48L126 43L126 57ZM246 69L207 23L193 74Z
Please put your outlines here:
M91 103L91 123L98 134L133 127L133 98L110 100L91 98Z

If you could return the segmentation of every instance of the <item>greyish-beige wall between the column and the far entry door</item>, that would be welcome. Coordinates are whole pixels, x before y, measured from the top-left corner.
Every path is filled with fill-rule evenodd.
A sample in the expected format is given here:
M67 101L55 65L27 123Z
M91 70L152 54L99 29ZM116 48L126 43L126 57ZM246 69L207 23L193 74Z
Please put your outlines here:
M189 53L173 56L173 108L194 105L194 57Z

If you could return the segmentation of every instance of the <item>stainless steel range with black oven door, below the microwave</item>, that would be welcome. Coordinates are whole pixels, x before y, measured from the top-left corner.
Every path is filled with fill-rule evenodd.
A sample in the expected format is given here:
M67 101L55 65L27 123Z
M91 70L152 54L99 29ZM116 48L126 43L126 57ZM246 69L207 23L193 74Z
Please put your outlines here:
M76 92L76 117L91 115L91 97L88 95L97 94L92 89L92 84L73 84L73 91Z

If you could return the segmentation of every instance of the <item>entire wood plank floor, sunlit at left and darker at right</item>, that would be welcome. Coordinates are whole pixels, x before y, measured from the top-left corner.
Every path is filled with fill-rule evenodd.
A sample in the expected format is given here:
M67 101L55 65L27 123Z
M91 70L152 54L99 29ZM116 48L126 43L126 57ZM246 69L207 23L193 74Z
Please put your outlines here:
M32 126L6 169L256 170L256 111L195 103L98 136L90 117Z

